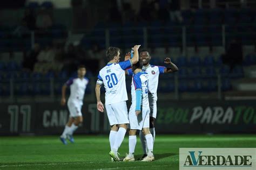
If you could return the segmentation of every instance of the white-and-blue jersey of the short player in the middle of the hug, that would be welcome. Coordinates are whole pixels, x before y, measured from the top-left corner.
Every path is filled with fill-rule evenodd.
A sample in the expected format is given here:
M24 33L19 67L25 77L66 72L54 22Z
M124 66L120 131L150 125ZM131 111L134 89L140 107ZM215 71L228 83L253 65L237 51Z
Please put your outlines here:
M131 83L131 95L132 95L132 105L136 106L136 90L142 90L142 107L149 107L149 97L147 96L149 90L149 75L145 72L138 72L133 74Z

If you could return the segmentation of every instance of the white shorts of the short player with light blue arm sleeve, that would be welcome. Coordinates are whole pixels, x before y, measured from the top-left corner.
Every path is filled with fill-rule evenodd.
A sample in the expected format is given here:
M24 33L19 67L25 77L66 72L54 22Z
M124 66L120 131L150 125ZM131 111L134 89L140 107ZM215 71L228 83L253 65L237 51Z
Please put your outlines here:
M129 129L134 130L142 130L143 128L150 128L150 108L149 107L142 107L142 111L138 116L135 113L134 105L131 105L129 110Z

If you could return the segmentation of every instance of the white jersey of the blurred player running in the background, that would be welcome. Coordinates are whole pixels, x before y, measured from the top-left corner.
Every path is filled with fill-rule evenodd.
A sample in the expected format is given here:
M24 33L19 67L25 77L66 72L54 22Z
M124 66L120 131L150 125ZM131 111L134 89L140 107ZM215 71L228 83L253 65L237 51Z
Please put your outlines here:
M78 102L83 104L83 98L85 89L89 80L84 77L80 79L78 77L71 78L66 82L66 86L70 87L70 96L68 102Z

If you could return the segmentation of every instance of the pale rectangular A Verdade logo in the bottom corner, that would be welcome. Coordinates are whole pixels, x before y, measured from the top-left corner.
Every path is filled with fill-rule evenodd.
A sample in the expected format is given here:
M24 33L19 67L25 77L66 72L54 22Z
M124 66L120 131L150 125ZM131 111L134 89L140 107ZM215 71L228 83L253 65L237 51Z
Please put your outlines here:
M256 169L256 148L180 148L182 169Z

